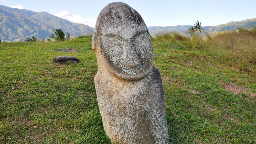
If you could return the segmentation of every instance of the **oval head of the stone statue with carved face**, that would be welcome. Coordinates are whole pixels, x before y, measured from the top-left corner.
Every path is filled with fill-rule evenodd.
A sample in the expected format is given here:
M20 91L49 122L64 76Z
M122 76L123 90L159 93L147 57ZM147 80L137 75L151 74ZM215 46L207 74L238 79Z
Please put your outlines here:
M124 80L141 79L153 67L153 47L147 26L136 10L121 2L110 3L101 10L92 48L98 54L97 59Z

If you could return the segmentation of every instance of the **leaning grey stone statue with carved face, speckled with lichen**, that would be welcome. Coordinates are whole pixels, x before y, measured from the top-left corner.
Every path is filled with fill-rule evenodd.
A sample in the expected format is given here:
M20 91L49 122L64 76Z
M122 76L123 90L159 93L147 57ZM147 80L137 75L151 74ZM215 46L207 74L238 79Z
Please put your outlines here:
M114 143L169 143L162 78L142 17L129 5L104 7L92 38L94 77L106 134Z

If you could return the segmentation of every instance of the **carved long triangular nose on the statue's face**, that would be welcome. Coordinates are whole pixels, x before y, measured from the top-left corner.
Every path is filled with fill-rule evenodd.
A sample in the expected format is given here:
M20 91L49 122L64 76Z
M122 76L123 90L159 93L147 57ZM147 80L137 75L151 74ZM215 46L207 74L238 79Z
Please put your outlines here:
M125 67L136 67L140 64L140 59L137 53L134 50L134 46L132 43L128 43L125 48Z

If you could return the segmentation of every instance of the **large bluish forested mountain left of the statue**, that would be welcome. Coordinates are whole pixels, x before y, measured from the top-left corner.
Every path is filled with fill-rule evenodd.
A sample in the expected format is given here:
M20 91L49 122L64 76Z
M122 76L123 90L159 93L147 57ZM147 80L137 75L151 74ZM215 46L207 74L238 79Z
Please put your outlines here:
M24 41L26 38L48 38L55 29L62 29L72 36L89 35L94 28L72 23L47 12L0 5L0 39L2 41Z

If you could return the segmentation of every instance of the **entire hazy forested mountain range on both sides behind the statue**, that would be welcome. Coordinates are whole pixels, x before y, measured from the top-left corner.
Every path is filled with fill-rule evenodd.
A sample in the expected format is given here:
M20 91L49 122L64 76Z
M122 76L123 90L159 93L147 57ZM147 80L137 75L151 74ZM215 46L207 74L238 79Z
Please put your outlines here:
M192 22L193 23L193 22ZM239 27L256 27L256 18L242 21L231 21L218 26L202 27L208 34L216 34L221 31L237 30ZM148 27L152 36L159 32L178 32L182 35L188 35L188 29L191 25ZM94 28L84 24L72 23L66 19L59 18L47 12L33 12L26 9L10 8L0 5L0 39L2 41L24 41L26 38L35 36L36 38L48 38L55 29L62 29L65 33L69 32L71 36L89 35ZM204 31L202 31L202 36Z

